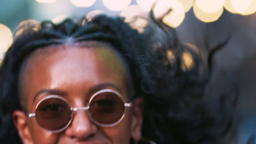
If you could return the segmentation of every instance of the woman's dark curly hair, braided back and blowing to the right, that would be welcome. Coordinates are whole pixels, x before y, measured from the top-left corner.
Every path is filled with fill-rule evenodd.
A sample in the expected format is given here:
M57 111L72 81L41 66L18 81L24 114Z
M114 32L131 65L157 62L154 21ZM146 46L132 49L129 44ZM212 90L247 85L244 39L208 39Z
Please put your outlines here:
M18 92L22 62L33 51L70 39L103 41L124 57L135 97L144 100L143 137L156 143L214 143L215 137L209 132L213 120L201 101L207 76L202 74L199 53L182 44L175 31L156 20L153 13L142 33L124 20L97 15L90 20L44 21L18 28L0 69L1 143L21 143L11 113L22 109ZM190 66L185 63L186 56Z

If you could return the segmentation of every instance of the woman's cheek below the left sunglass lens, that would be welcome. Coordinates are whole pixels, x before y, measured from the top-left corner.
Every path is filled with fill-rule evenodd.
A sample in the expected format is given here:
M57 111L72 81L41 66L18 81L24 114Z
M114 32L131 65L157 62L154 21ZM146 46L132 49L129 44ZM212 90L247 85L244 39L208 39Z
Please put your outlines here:
M61 133L51 133L49 131L45 131L39 127L36 123L35 119L32 118L28 121L28 127L30 129L30 133L33 139L33 143L43 144L43 143L57 143L59 141L59 135Z

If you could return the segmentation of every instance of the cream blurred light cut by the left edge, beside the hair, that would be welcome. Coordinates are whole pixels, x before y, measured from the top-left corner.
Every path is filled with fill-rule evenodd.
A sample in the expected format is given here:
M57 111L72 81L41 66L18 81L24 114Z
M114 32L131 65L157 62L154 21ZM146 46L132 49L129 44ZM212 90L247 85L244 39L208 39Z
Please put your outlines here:
M11 43L13 43L13 34L7 26L0 23L0 55L8 50Z

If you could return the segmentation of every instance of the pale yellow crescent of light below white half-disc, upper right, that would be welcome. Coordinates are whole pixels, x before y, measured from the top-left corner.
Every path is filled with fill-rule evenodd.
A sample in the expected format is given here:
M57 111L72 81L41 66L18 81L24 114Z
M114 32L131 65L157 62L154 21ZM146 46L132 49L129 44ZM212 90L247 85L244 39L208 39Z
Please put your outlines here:
M196 4L193 5L193 11L197 19L203 22L213 22L219 19L220 15L222 15L224 8L220 9L216 13L205 13L201 9L197 7Z

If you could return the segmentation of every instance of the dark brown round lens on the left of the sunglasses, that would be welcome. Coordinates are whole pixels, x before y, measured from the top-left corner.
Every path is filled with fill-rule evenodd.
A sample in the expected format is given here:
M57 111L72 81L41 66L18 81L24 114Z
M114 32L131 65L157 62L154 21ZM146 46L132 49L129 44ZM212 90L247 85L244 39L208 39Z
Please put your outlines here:
M47 130L60 130L71 119L71 107L60 98L43 100L36 110L37 123Z

